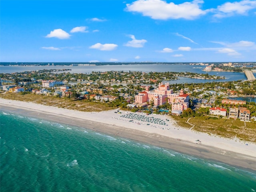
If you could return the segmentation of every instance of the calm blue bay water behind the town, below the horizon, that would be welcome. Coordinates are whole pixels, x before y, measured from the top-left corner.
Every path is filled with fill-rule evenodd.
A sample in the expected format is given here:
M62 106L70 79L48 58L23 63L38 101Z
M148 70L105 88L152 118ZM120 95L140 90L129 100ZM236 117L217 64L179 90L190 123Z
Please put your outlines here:
M99 66L1 66L1 73L25 72L43 69L71 69L71 71L64 71L70 73L91 73L91 72L106 72L106 71L140 71L140 72L192 72L198 74L224 76L225 79L206 80L193 79L186 77L179 77L178 80L168 81L170 84L179 83L204 83L204 82L228 82L237 80L246 80L246 75L243 72L216 72L203 71L205 66L195 67L188 64L129 64L129 65L99 65ZM256 73L254 73L256 76ZM167 81L166 81L167 82Z

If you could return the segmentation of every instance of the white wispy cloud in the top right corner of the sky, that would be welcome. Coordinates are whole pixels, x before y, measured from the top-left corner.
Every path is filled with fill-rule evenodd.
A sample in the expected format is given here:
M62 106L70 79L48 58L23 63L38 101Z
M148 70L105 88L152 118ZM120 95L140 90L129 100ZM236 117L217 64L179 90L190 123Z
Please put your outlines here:
M216 18L233 16L235 14L245 15L249 10L256 8L255 0L242 0L240 2L226 2L216 9L212 9Z

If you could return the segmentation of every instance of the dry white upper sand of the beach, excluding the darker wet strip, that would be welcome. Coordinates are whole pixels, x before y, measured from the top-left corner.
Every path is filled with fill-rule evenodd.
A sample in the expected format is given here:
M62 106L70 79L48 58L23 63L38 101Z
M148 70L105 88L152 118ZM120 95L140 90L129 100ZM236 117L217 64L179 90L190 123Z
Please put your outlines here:
M110 126L119 126L123 128L129 128L133 130L147 132L148 134L157 134L159 136L166 136L168 138L174 138L179 142L178 139L182 141L191 142L191 145L198 146L200 148L204 146L210 146L214 148L219 148L220 153L225 154L226 151L231 151L239 154L244 154L247 156L251 156L252 159L256 158L256 144L252 142L242 142L238 139L226 139L220 138L218 136L209 136L208 134L194 132L193 130L187 130L176 126L175 122L168 118L165 115L146 115L142 113L135 113L138 115L144 116L144 118L154 117L160 118L168 124L159 125L139 120L134 120L134 122L129 122L132 119L121 117L122 115L127 116L132 112L120 111L120 113L115 113L117 110L105 111L105 112L80 112L76 110L68 110L64 108L56 108L51 106L45 106L40 104L35 104L32 102L21 102L16 100L6 100L0 98L0 104L2 106L10 106L11 108L20 108L33 110L35 112L45 113L48 116L58 115L58 116L66 116L75 119L84 120L86 123L100 122L104 124L108 124ZM26 115L26 114L24 114ZM168 118L170 121L166 121ZM135 123L136 122L136 123ZM150 125L154 126L150 126ZM156 127L158 126L158 127ZM162 127L162 128L160 128ZM164 129L163 129L164 128ZM201 144L196 144L196 140L200 140ZM248 145L246 145L248 144Z

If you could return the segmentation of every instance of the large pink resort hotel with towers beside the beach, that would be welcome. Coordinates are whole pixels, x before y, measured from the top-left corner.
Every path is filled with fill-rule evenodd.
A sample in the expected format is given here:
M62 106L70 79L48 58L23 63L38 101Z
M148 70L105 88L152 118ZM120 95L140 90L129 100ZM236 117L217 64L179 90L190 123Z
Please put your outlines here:
M135 96L135 104L144 106L146 102L154 102L154 106L168 102L172 104L172 113L178 115L188 108L189 96L184 94L183 90L180 90L179 94L173 93L173 90L170 90L169 83L159 83L157 89L149 91L146 87L146 90Z

